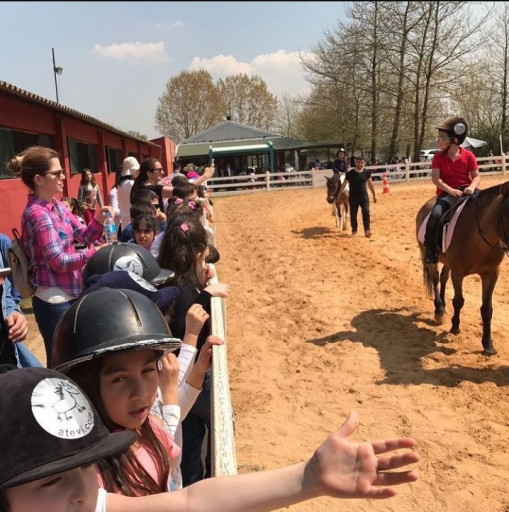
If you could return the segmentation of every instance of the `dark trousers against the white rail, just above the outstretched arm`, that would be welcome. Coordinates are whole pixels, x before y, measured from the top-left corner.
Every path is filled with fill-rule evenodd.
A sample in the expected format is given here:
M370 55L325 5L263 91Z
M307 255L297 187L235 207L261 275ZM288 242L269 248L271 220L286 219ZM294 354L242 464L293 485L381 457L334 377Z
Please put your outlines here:
M210 392L210 370L208 370L203 382L203 389L182 422L182 461L180 469L182 471L182 485L184 487L212 476ZM205 435L207 435L207 451L204 467L202 446Z

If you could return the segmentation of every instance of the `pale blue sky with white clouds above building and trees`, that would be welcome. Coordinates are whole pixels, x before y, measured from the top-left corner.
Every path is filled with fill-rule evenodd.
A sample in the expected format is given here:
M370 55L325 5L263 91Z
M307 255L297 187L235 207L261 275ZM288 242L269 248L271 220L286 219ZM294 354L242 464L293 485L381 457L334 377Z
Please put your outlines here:
M205 68L305 93L298 53L344 20L348 2L0 2L0 80L121 130L158 137L165 83Z

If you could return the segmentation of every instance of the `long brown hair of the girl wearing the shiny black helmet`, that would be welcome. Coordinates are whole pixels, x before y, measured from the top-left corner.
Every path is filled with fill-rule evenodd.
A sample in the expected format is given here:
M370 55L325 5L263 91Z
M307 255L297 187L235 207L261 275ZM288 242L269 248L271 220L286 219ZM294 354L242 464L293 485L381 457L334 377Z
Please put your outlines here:
M114 432L123 427L111 421L101 399L100 374L103 365L104 357L92 359L71 368L69 377L83 389L92 404L95 405L106 428L110 432ZM133 449L129 448L123 455L108 457L97 464L104 487L108 492L116 492L117 489L120 489L125 496L145 496L168 490L170 476L168 453L152 430L148 419L141 425L138 434L138 441L151 454L158 470L157 473L161 475L161 480L156 482L139 462Z

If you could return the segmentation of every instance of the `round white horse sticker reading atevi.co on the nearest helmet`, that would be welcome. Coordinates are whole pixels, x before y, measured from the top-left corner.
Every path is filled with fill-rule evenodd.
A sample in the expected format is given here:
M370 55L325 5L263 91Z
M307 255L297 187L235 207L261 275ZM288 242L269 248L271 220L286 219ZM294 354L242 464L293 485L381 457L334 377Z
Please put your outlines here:
M49 434L78 439L94 428L94 413L85 395L65 379L44 379L32 392L32 413Z

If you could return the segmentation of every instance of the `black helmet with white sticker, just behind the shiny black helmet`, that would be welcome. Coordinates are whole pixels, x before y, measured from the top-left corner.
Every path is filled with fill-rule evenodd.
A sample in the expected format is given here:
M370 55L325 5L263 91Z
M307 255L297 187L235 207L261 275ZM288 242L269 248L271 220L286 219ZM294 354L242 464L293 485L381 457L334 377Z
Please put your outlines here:
M90 276L113 270L133 272L154 286L162 286L175 275L172 270L162 269L145 247L129 242L114 242L101 247L88 260L83 270L85 288Z

